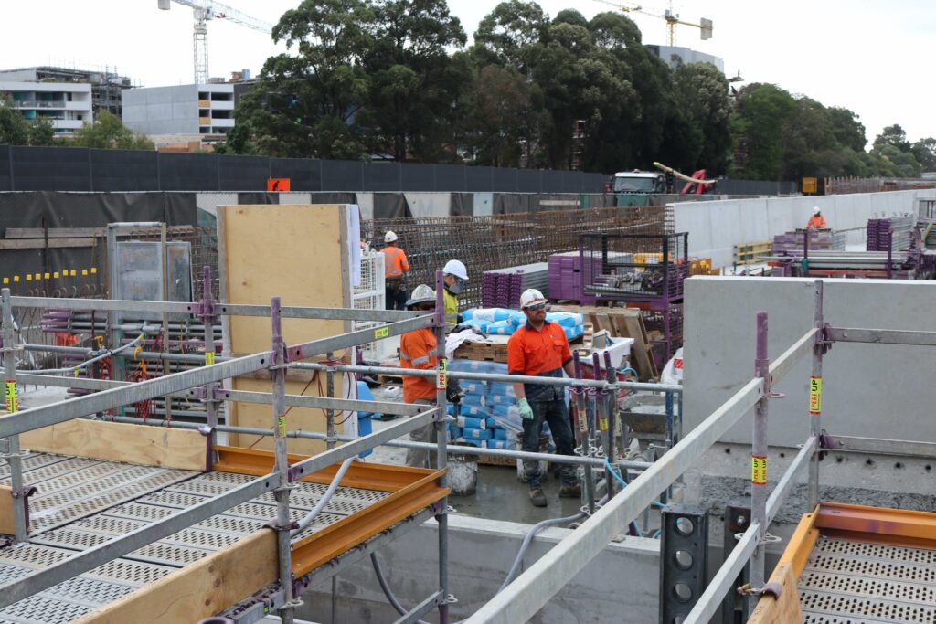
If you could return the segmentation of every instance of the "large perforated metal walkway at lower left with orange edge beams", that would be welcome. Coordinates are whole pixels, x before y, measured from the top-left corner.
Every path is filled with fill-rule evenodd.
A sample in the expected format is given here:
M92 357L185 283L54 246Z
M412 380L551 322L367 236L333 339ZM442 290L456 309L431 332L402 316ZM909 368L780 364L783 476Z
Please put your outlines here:
M0 584L103 544L177 510L222 494L255 477L227 472L190 472L109 461L30 455L24 480L38 487L30 499L28 543L0 550ZM0 483L8 482L0 464ZM294 519L314 507L327 486L298 483L290 496ZM300 540L388 496L387 492L339 487ZM0 624L59 624L78 619L168 573L234 544L276 515L272 494L149 544L90 573L0 610Z

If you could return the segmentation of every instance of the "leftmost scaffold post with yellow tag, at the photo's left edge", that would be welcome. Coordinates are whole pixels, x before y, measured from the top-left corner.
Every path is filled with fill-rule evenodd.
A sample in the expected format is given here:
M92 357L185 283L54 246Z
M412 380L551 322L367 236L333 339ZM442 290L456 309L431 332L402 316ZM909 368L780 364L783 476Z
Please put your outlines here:
M9 298L9 288L2 291L3 297L3 366L5 373L4 395L7 414L19 412L19 391L16 383L16 350L13 346L13 305ZM23 542L29 534L26 497L28 488L22 484L22 457L20 454L20 436L9 436L0 448L4 450L9 464L10 495L13 497L13 539Z

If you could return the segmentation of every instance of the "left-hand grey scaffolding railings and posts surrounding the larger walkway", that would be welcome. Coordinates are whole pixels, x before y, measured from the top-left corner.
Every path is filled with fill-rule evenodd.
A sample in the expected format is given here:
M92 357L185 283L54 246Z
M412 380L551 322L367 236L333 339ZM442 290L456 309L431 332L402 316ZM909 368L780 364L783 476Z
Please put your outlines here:
M404 333L414 331L424 327L431 327L438 335L440 344L445 343L444 339L444 306L442 305L441 295L442 281L441 271L436 272L436 310L438 312L418 313L418 312L392 312L379 310L357 310L357 309L329 309L329 308L292 308L283 307L279 297L272 297L270 306L260 305L241 305L218 302L212 296L211 271L206 268L203 278L202 297L200 300L187 302L169 302L169 301L126 301L126 300L107 300L107 299L80 299L80 298L58 298L58 297L13 297L8 289L2 291L2 319L3 319L3 364L6 372L5 395L7 398L7 416L0 419L0 440L4 441L3 455L7 458L8 472L10 475L9 496L12 498L12 516L13 516L13 540L22 543L29 539L30 524L28 521L29 493L32 489L24 481L23 453L20 448L19 436L27 431L39 428L47 428L56 424L67 423L80 419L82 417L95 417L98 419L110 420L124 423L145 423L150 426L167 426L171 428L197 428L205 437L205 468L220 469L221 466L241 465L246 466L241 474L248 476L236 485L227 487L223 493L210 498L198 501L197 504L187 505L178 509L170 515L155 520L140 527L137 530L130 530L121 533L113 539L102 544L94 545L85 549L68 559L57 560L51 565L31 573L22 575L14 580L8 581L2 586L0 591L0 609L4 609L16 602L28 599L30 596L36 596L59 583L72 579L80 574L88 573L102 564L107 564L114 559L122 558L139 548L148 544L154 544L159 540L167 538L178 531L190 528L197 523L201 523L212 516L219 515L236 505L252 501L263 495L272 496L275 500L276 517L268 525L275 531L276 535L276 577L279 583L268 588L257 587L257 594L249 601L223 605L227 607L225 612L228 617L232 617L239 622L256 621L258 614L263 610L278 611L284 621L292 621L295 607L299 604L298 595L302 588L315 580L328 578L337 573L337 570L323 572L321 566L331 559L322 559L315 555L309 549L306 542L293 542L291 537L295 530L302 527L302 521L299 526L295 522L296 509L290 503L290 491L297 486L303 477L314 472L327 470L342 464L338 469L333 480L333 486L341 482L344 465L358 454L373 448L380 444L395 444L409 447L431 448L435 452L435 469L423 479L421 490L410 492L415 498L409 502L410 507L403 507L402 511L398 509L398 524L414 525L420 523L429 516L434 516L439 528L438 552L439 552L439 576L438 587L425 601L410 609L402 615L400 621L417 621L434 609L438 609L440 620L447 621L448 605L453 601L448 587L447 579L447 488L446 485L446 457L448 454L464 453L463 448L452 448L447 443L446 421L448 416L446 402L446 387L449 378L475 379L487 381L510 381L518 383L537 383L571 386L573 394L577 397L583 397L588 394L589 410L593 420L589 421L588 445L592 443L604 444L606 450L605 457L601 454L586 453L580 456L554 456L538 453L524 453L519 451L504 451L497 449L473 449L473 453L496 455L502 457L520 457L537 460L549 460L553 462L565 462L574 465L584 465L593 470L622 470L622 471L646 471L651 468L651 464L641 461L622 461L614 457L613 445L608 446L607 431L604 439L601 438L598 431L607 427L604 419L609 417L605 403L601 401L613 397L615 391L619 388L629 389L648 389L654 391L663 391L670 397L681 393L680 387L638 384L621 382L618 380L617 371L607 368L607 377L595 379L557 379L542 377L523 377L494 375L486 373L448 373L446 370L446 358L440 356L438 364L434 370L412 370L408 373L414 376L425 376L435 380L436 401L434 406L417 406L407 404L391 404L380 401L362 401L351 399L335 399L332 392L333 387L329 384L329 396L327 397L304 397L285 395L285 373L290 369L313 369L324 370L327 374L333 375L336 372L357 372L362 370L375 370L373 367L359 367L353 365L336 364L331 361L324 363L307 362L315 356L325 356L342 349L364 344L367 342L383 340L394 336L400 336ZM205 354L214 354L214 327L217 325L220 317L241 315L241 316L269 316L271 318L271 349L261 353L248 356L217 356L206 358L201 356L201 366L191 370L180 370L171 372L165 376L156 377L136 383L118 382L99 379L80 379L71 374L39 374L37 371L16 370L16 354L25 353L27 349L42 350L50 348L48 345L29 345L18 344L14 341L14 306L19 310L44 309L54 306L56 309L67 310L69 312L81 311L99 311L107 312L110 315L111 323L119 322L120 314L139 313L139 312L157 312L163 315L165 319L174 314L188 315L197 318L204 327L205 336ZM283 318L303 318L303 319L344 319L355 323L383 323L377 327L366 327L355 329L351 332L332 336L325 339L303 342L300 344L286 345L281 331L281 320ZM114 327L109 326L112 330ZM183 361L197 357L184 354L163 354L168 358L178 358ZM268 370L271 374L271 393L262 392L242 392L226 390L221 386L221 382L229 378L253 373L256 371ZM595 370L600 370L597 366ZM49 371L44 371L49 372ZM61 371L51 371L52 373ZM399 370L397 370L399 374ZM70 373L66 371L66 373ZM19 410L17 386L22 384L44 384L59 385L64 387L84 387L89 390L96 390L93 394L66 399L50 405L35 407L27 410ZM160 397L187 396L192 399L198 399L204 404L206 422L204 425L197 423L186 423L182 421L158 420L154 418L141 419L130 416L108 415L109 412L119 410L122 406L138 403L139 401L156 399ZM229 427L220 422L220 405L223 401L247 401L256 403L266 403L271 405L271 428L241 428ZM671 405L674 401L670 400ZM314 407L327 411L328 431L325 433L314 433L307 431L289 430L288 421L285 417L288 405L300 405L303 407ZM376 433L360 438L349 438L338 436L334 431L335 414L341 414L344 410L363 410L368 412L387 412L394 414L403 414L408 416L401 419L388 428L384 428ZM670 409L670 418L672 410ZM613 415L611 418L611 430L614 430ZM421 427L432 426L438 431L438 443L408 443L396 441L407 433ZM271 436L274 438L274 452L269 457L261 460L257 458L258 453L243 451L242 449L233 449L219 446L215 437L219 431L235 433L252 433L256 435ZM286 439L289 437L314 438L325 440L328 443L329 450L315 455L314 457L305 457L297 460L296 457L290 457L286 454ZM343 442L342 445L336 445ZM609 455L608 455L609 454ZM591 474L592 470L587 470L586 474ZM26 472L28 474L28 472ZM429 488L429 489L427 489ZM590 508L594 509L596 504L593 498L592 487L590 492ZM417 495L417 496L416 496ZM323 497L327 500L328 494ZM400 502L399 504L403 504ZM422 510L421 512L419 510ZM427 511L428 510L428 511ZM400 515L402 514L402 515ZM392 519L392 518L391 518ZM352 540L347 544L356 553L363 552L369 547L379 547L380 544L392 539L392 528L386 522L383 525L384 533L366 533L368 539L367 546L358 541L356 545ZM378 531L379 533L380 531ZM362 535L365 533L358 533ZM381 537L383 535L383 537ZM253 536L251 537L253 539ZM308 538L307 538L308 540ZM383 542L381 542L383 540ZM303 549L304 546L304 549ZM334 548L339 548L335 545ZM313 549L314 550L314 549ZM335 556L341 555L346 560L353 560L356 555L344 555L345 551L333 550ZM347 551L350 552L350 551ZM358 558L359 559L359 558Z

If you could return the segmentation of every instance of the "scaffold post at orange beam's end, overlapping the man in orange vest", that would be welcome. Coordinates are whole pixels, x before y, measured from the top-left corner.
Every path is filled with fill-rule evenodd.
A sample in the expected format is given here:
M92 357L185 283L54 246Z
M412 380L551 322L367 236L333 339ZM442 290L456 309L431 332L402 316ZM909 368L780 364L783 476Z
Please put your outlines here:
M441 270L435 271L435 415L436 470L448 467L448 360L446 359L446 304L443 295L445 282ZM447 475L442 476L442 486L448 485ZM435 520L439 525L439 624L448 624L448 497L439 501Z

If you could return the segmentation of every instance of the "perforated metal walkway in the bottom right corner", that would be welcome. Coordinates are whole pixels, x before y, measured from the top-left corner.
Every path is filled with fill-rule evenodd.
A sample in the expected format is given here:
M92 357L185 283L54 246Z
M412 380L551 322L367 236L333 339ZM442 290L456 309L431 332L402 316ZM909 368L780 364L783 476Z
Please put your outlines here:
M809 624L936 622L936 551L821 535L797 588Z

